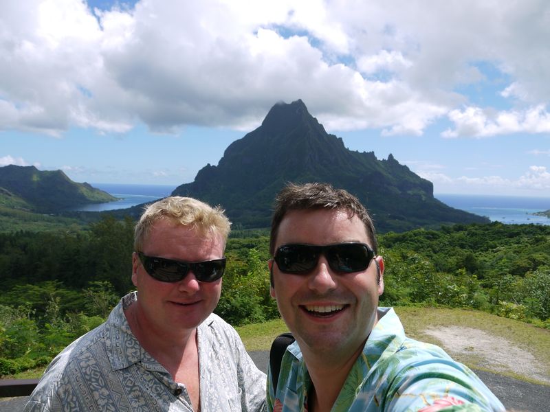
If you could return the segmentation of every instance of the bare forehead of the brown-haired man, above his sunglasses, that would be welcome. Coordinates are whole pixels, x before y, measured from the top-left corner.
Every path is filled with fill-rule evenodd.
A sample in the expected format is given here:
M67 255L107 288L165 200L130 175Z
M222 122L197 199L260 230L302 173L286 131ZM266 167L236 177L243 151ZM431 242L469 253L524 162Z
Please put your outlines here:
M281 220L275 247L288 243L332 244L362 242L371 245L360 218L345 210L293 210Z

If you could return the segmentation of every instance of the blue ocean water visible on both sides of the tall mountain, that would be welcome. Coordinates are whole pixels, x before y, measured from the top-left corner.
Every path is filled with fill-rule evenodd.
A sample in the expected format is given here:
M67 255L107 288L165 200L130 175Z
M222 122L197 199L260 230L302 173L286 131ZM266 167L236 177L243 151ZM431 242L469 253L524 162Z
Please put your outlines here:
M125 209L169 196L176 188L175 185L126 185L122 183L91 183L91 185L120 198L120 201L86 205L78 210ZM550 218L532 215L536 211L549 210L550 198L470 194L435 194L434 197L450 207L487 216L492 222L499 221L511 225L522 223L550 225Z

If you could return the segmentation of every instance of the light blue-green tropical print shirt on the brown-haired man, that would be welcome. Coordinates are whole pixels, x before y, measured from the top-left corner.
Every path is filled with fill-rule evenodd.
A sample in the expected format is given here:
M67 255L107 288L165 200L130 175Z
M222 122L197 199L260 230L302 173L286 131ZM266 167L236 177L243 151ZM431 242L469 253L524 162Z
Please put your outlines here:
M460 405L445 411L505 411L470 369L435 345L408 339L393 308L378 308L378 319L333 412L419 411L438 400ZM307 411L311 379L298 343L283 355L276 396L267 375L268 411Z

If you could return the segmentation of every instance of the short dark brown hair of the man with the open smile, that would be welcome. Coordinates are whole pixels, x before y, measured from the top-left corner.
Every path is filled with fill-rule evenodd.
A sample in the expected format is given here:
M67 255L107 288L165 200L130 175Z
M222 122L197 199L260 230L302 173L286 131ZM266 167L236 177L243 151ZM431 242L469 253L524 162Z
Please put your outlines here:
M288 183L275 198L275 211L271 223L270 253L275 253L278 229L285 215L292 210L329 209L345 210L349 218L358 216L362 220L366 235L371 241L374 253L378 251L373 220L358 198L343 189L335 189L329 183Z

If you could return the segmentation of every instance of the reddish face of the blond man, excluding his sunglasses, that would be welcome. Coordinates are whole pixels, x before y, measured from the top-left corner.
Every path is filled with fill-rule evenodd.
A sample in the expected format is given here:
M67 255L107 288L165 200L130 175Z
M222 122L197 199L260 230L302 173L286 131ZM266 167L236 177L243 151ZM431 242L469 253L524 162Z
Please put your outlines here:
M220 235L203 236L195 229L163 219L153 224L141 252L181 262L201 262L223 258L224 247ZM194 330L218 304L221 279L198 282L190 271L179 282L160 282L146 273L137 253L133 253L132 265L132 282L138 294L135 315L140 328L149 333Z

